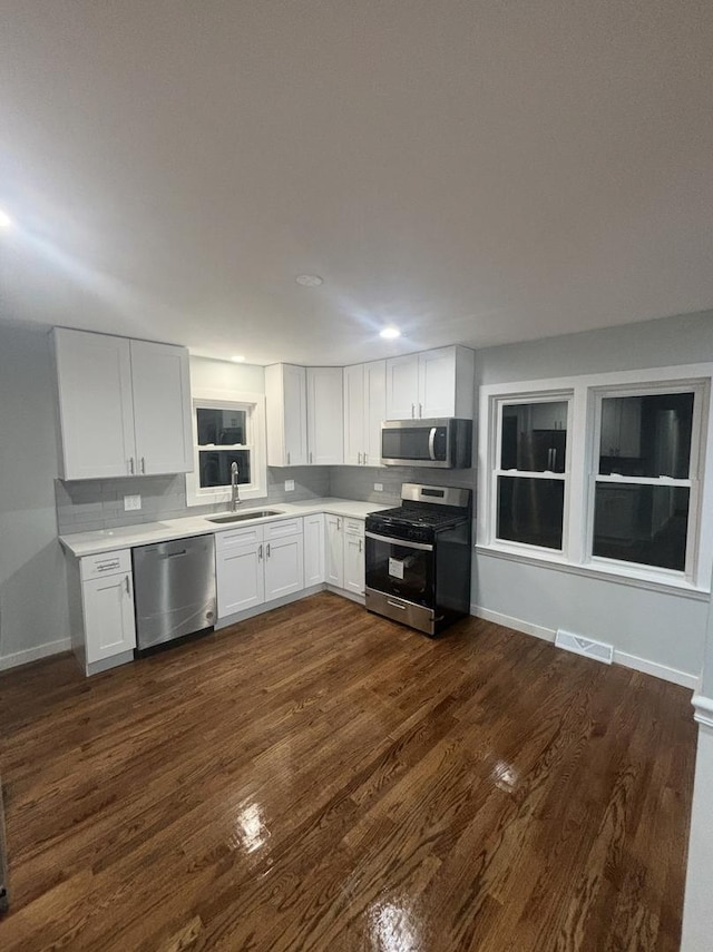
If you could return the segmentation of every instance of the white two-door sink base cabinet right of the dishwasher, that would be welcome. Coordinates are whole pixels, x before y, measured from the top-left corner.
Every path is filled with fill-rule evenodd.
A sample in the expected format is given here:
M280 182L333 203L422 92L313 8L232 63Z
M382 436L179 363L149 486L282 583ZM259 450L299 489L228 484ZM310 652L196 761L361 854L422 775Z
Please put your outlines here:
M304 588L302 519L215 537L218 619Z

